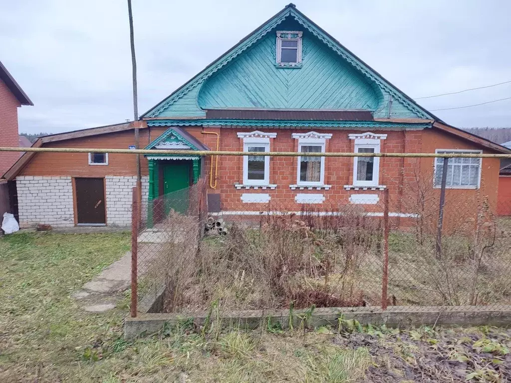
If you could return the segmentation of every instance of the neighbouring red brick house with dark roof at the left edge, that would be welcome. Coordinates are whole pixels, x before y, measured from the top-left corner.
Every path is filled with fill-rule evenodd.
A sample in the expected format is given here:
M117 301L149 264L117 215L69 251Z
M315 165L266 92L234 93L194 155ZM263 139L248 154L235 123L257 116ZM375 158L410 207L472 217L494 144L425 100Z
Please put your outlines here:
M21 105L34 104L0 62L0 146L27 146L25 137L18 135L18 108ZM18 158L17 152L0 152L0 174L4 174ZM9 197L14 194L14 190L14 182L0 179L0 221L6 211L16 210L15 201Z

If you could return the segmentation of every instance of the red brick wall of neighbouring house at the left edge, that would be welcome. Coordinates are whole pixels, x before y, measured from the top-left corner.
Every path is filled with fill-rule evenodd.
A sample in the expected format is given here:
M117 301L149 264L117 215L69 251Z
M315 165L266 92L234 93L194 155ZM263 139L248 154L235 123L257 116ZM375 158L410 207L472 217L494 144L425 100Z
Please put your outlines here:
M0 146L17 147L18 110L21 106L7 85L0 80ZM0 177L19 158L18 152L0 152Z

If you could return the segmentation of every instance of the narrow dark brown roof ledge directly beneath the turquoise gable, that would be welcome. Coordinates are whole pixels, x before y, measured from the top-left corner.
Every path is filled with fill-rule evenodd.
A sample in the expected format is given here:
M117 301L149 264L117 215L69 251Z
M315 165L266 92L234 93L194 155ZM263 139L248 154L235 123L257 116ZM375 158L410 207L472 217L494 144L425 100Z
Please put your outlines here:
M363 110L208 109L206 110L206 118L293 121L373 121L373 114Z

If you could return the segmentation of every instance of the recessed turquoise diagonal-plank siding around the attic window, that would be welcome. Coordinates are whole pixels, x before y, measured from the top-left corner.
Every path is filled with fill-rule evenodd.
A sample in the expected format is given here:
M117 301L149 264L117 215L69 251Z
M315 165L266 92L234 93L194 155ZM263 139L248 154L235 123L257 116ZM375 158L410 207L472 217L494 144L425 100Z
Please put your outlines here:
M300 28L297 22L278 26ZM303 37L303 66L275 66L275 31L202 85L198 103L213 108L377 110L383 94L310 33Z

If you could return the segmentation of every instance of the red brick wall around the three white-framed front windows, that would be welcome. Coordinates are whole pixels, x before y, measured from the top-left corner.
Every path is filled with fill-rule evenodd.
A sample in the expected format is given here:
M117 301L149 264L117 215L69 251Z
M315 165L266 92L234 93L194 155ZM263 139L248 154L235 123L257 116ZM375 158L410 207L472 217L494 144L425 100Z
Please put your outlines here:
M250 132L253 129L243 128L221 128L220 150L243 150L243 139L238 138L238 132ZM270 151L276 152L296 152L298 150L298 140L291 137L291 133L296 132L292 129L263 129L264 132L276 132L276 138L270 138ZM304 130L305 132L305 130ZM348 130L320 130L321 133L332 133L332 138L327 139L327 152L353 152L354 140L348 138L349 133L360 133L358 131ZM381 141L382 152L402 153L405 150L405 135L410 135L408 150L419 152L420 138L417 132L403 131L385 131L378 133L387 134L387 138ZM419 132L420 134L420 132ZM208 145L213 148L210 142ZM209 162L208 162L209 164ZM392 194L399 192L399 187L403 180L403 159L401 158L381 158L380 159L380 184L390 188ZM207 167L209 175L209 167ZM218 186L216 190L210 190L210 193L220 193L222 208L226 210L251 210L255 207L253 204L241 202L243 193L265 193L271 196L272 203L287 204L289 207L300 209L300 204L294 204L296 194L323 194L326 197L324 203L334 202L335 204L348 203L351 194L378 194L380 190L345 190L343 185L353 183L353 158L326 158L324 183L332 185L329 190L291 190L289 185L296 184L297 180L297 158L296 157L272 157L270 159L270 184L276 184L274 190L261 189L236 189L235 183L243 183L243 158L234 156L222 156L219 158L218 166ZM394 198L393 204L397 208L399 199ZM295 206L292 206L295 205ZM255 207L257 208L257 207ZM370 206L369 206L370 208ZM378 210L378 209L377 209ZM381 209L379 210L381 211Z

